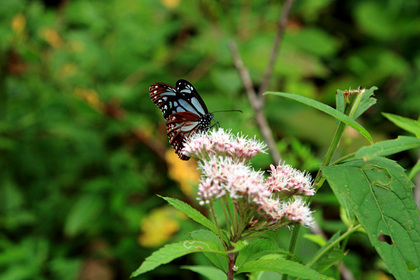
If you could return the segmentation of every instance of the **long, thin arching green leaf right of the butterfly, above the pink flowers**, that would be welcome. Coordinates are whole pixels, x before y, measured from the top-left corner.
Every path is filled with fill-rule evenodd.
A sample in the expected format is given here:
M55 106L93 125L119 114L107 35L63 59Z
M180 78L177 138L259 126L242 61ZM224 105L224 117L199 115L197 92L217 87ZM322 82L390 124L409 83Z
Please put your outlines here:
M298 102L301 102L303 104L306 104L308 106L311 106L312 108L315 108L319 111L322 111L336 119L339 119L340 121L346 123L347 125L353 127L355 130L357 130L360 134L362 134L370 143L373 144L373 140L372 140L372 136L370 136L369 132L363 128L360 124L358 124L355 120L353 120L352 118L350 118L349 116L339 112L338 110L335 110L334 108L325 105L321 102L318 102L316 100L298 95L298 94L294 94L294 93L285 93L285 92L273 92L273 91L268 91L265 94L272 94L272 95L278 95L278 96L283 96L289 99L293 99L296 100Z

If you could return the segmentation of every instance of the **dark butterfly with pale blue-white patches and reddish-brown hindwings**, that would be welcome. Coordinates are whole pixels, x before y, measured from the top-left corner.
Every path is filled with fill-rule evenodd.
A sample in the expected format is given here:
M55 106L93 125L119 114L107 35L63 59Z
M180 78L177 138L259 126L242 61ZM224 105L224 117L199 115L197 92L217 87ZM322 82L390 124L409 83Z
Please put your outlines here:
M180 159L189 160L182 153L184 143L195 133L208 131L213 114L209 113L203 99L186 80L178 80L175 88L165 83L154 83L149 92L166 120L169 143Z

